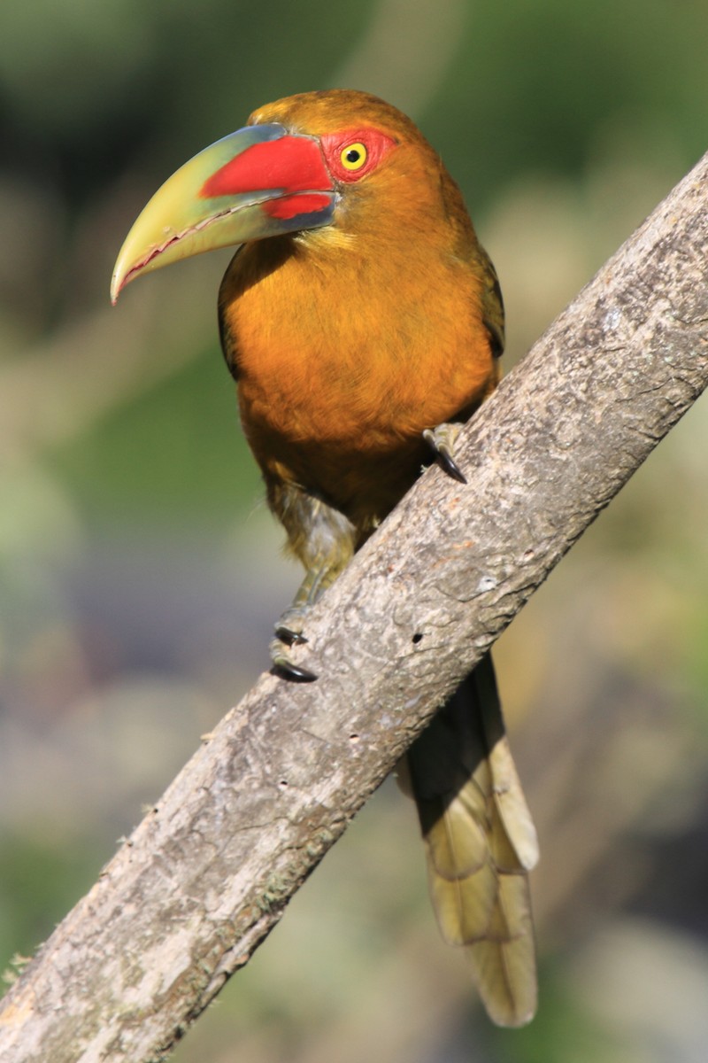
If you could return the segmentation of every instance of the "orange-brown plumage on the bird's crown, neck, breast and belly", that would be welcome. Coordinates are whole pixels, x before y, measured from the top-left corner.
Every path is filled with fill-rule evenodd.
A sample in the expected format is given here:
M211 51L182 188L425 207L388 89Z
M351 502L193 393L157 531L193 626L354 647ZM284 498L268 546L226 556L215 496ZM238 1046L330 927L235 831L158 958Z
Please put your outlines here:
M360 115L395 137L396 151L346 189L336 225L244 247L220 297L241 418L266 484L320 492L356 525L357 544L429 456L422 431L465 419L497 381L484 324L488 260L415 126L353 92L294 97L252 121L323 135Z

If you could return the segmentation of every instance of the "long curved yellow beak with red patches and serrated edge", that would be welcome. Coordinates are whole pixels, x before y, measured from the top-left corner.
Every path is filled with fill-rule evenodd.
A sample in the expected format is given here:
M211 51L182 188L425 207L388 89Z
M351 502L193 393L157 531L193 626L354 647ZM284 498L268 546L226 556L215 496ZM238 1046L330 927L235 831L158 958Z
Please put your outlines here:
M315 137L247 125L185 163L138 216L110 301L136 276L215 248L327 225L336 192Z

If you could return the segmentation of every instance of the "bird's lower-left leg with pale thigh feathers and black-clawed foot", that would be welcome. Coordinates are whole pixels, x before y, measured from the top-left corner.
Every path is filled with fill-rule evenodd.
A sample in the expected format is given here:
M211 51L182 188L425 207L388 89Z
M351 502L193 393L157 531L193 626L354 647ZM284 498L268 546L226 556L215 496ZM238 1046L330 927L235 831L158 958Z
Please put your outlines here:
M288 649L308 641L303 634L307 614L351 559L355 528L344 513L297 485L270 485L269 504L288 533L291 551L305 566L293 603L275 625L271 660L287 678L311 682L316 675L295 664Z

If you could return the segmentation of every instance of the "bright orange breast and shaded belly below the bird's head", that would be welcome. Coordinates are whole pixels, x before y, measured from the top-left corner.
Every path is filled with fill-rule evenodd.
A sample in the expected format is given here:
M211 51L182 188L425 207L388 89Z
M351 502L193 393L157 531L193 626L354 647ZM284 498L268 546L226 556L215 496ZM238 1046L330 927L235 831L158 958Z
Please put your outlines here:
M424 428L495 386L482 286L479 269L415 241L324 230L242 249L222 284L222 334L266 480L316 491L355 522L385 516L418 474Z

